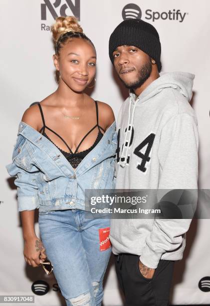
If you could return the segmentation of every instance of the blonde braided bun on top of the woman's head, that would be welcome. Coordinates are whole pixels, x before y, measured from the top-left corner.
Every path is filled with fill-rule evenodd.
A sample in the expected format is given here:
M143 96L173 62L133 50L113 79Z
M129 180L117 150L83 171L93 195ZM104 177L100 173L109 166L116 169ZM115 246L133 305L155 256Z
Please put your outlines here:
M55 23L51 26L52 37L55 43L63 33L70 31L83 32L82 27L74 16L57 17Z

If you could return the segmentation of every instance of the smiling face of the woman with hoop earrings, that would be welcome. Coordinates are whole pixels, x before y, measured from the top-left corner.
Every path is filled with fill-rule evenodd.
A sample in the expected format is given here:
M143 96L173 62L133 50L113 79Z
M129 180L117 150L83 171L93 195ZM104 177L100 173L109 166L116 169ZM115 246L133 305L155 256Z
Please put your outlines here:
M74 37L53 55L54 65L63 81L74 91L82 91L91 83L96 73L96 52L87 40Z

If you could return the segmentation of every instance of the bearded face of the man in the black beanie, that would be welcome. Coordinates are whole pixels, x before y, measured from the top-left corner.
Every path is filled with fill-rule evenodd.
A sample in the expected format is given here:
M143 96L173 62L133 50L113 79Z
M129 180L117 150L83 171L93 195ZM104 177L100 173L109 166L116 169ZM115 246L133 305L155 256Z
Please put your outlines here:
M133 45L121 45L113 52L115 69L127 88L136 89L152 72L151 58Z

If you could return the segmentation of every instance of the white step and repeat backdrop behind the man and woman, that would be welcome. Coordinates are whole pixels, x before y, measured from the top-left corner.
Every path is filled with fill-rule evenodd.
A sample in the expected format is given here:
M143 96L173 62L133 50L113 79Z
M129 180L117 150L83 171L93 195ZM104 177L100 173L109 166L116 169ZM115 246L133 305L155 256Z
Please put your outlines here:
M0 295L34 295L35 305L65 305L53 274L26 265L11 162L24 110L56 89L50 25L75 15L97 50L91 95L109 103L117 117L128 95L113 71L108 41L123 19L142 18L160 34L163 71L195 73L191 105L200 133L199 187L210 189L210 1L209 0L0 0ZM38 215L35 228L39 235ZM172 304L210 304L210 220L193 220L182 261L176 263ZM104 305L122 305L113 258L105 278Z

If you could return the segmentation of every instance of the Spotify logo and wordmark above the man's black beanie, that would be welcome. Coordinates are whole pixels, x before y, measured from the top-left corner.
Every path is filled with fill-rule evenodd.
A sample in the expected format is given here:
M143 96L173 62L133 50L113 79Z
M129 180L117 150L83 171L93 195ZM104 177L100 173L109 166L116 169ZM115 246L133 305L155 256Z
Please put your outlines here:
M180 9L169 9L168 11L154 11L152 9L146 9L144 14L142 14L141 8L134 4L130 3L123 7L122 16L123 19L131 18L141 18L142 16L147 20L152 20L153 22L159 19L162 20L177 20L183 22L188 12L182 12Z

